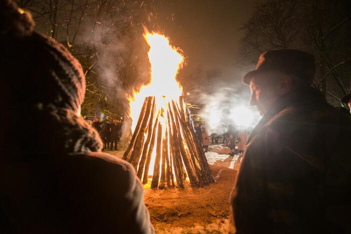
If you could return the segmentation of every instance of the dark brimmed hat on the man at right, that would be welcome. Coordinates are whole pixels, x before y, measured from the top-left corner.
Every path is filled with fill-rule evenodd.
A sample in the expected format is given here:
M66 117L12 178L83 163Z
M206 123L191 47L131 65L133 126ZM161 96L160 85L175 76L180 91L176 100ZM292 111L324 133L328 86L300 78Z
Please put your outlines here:
M310 84L315 71L314 57L295 49L269 50L259 56L256 69L248 72L242 81L249 84L254 75L267 70L294 75Z

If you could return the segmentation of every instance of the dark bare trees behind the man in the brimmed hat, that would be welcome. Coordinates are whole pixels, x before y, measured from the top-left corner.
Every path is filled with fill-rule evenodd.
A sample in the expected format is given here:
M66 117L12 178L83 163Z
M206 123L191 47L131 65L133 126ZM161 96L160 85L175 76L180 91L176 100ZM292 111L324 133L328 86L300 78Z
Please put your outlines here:
M268 0L257 4L243 24L240 53L256 62L266 50L295 48L316 57L314 84L329 101L339 102L350 91L351 20L347 0ZM336 103L335 103L336 104Z

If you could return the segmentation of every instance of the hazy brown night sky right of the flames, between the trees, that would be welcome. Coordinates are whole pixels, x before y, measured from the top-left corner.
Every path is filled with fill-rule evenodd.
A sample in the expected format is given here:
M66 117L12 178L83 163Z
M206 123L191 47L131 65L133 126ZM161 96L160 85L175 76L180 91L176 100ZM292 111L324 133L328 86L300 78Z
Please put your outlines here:
M253 11L255 0L161 0L159 25L180 47L191 70L219 68L223 78L239 78L236 65L241 24ZM173 14L173 18L172 18Z

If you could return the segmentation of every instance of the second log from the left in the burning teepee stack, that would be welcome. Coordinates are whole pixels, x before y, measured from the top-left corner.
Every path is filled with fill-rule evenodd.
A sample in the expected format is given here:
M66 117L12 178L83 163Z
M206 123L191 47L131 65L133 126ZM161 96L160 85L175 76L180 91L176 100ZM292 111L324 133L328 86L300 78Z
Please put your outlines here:
M140 126L138 135L137 135L135 143L134 143L133 150L131 151L130 158L129 158L129 162L132 164L135 171L137 169L137 164L139 163L139 159L141 156L141 151L143 148L142 146L144 145L145 130L146 130L147 122L150 118L150 112L151 112L150 110L151 110L151 106L152 106L152 100L153 100L153 97L151 97L151 96L147 97L145 114L144 114L144 117L142 119L141 126Z

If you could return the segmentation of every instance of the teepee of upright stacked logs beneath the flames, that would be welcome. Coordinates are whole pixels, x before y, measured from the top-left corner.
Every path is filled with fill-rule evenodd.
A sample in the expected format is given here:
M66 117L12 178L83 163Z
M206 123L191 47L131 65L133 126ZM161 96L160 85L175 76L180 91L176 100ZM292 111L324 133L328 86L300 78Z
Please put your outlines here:
M123 159L134 166L142 183L147 183L151 156L156 147L153 188L175 185L183 188L186 177L192 187L213 182L201 144L185 113L182 96L179 101L169 101L157 113L155 101L154 96L145 98Z

